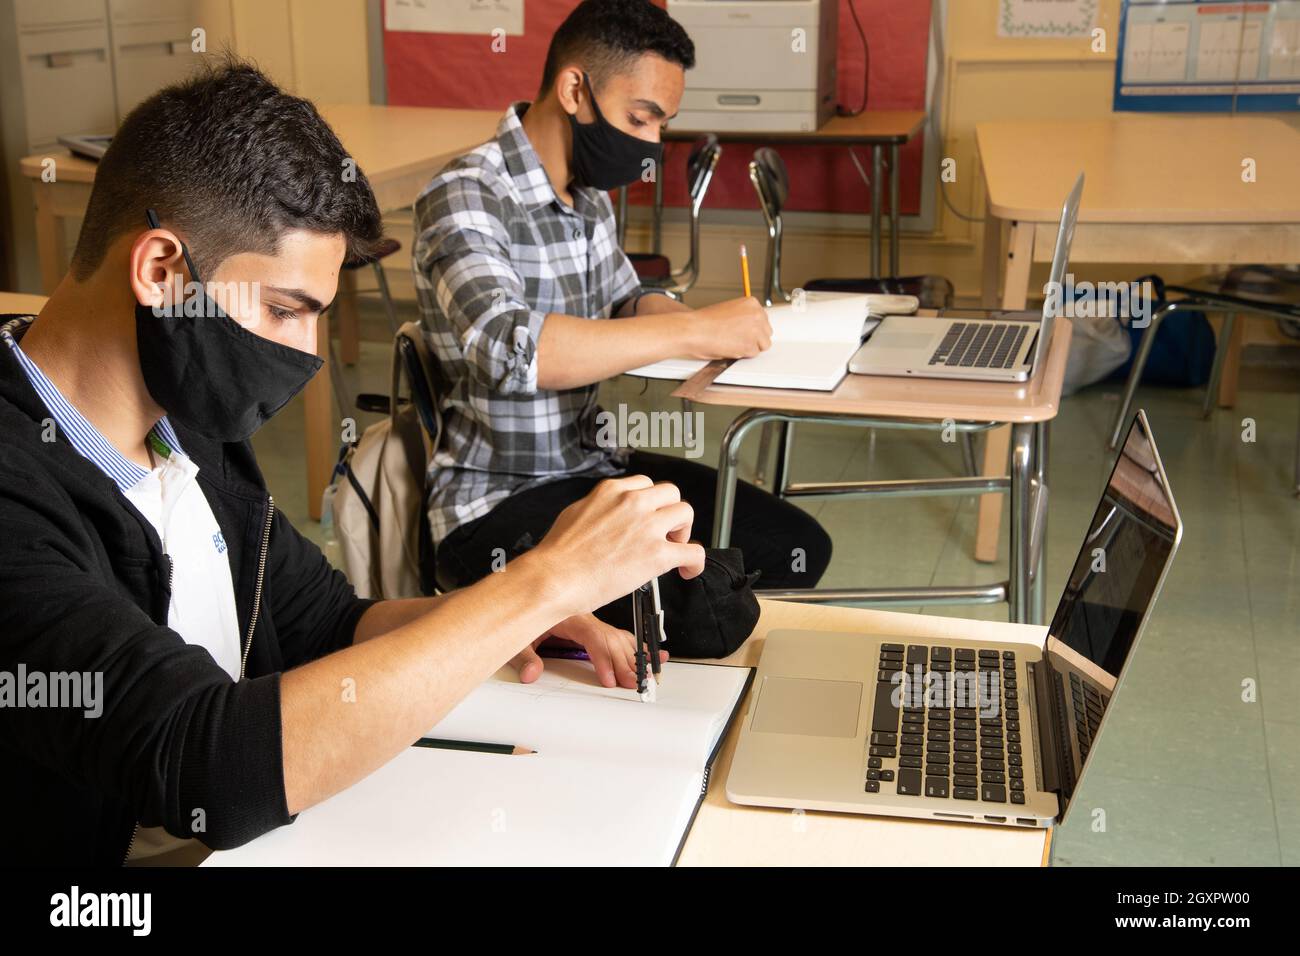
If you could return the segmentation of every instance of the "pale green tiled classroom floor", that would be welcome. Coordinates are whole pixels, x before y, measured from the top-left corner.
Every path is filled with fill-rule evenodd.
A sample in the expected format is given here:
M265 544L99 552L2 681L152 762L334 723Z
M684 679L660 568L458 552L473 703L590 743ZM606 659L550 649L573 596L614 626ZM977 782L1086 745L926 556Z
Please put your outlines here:
M363 343L348 390L386 390L389 355ZM1291 494L1296 380L1252 388L1235 410L1200 418L1196 390L1144 389L1186 524L1183 545L1117 697L1113 721L1053 843L1056 865L1300 864L1300 501ZM614 407L676 410L664 382L618 380ZM1046 551L1049 611L1105 481L1104 441L1115 386L1074 395L1053 428ZM1253 418L1257 441L1242 441ZM706 410L705 455L716 463L731 419ZM363 427L365 421L361 421ZM300 399L256 441L280 507L309 536ZM748 444L751 468L757 440ZM801 427L793 476L919 477L957 473L959 446L937 434ZM971 558L974 498L809 502L835 540L827 585L978 583L1005 576ZM1004 519L1005 528L1005 519ZM326 553L333 553L326 546ZM932 613L1006 619L1005 606ZM1253 687L1253 695L1248 691Z

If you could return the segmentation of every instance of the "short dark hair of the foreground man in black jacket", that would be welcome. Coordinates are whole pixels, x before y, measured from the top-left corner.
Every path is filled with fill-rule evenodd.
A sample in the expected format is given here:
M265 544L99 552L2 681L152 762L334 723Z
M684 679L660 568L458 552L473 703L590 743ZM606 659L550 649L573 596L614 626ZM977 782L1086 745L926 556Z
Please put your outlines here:
M369 181L316 107L231 56L122 121L95 173L73 274L88 278L114 239L147 229L148 208L204 278L238 252L274 255L291 229L342 233L350 261L372 258L384 234Z

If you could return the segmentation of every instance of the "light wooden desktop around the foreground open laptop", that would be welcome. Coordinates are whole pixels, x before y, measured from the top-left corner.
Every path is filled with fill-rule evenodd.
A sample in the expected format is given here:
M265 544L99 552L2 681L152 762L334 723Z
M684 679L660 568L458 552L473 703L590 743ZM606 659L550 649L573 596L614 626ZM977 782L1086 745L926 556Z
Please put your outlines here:
M762 601L754 636L723 663L757 666L770 631L814 628L889 635L905 641L928 637L1043 644L1044 628L928 614ZM751 692L753 693L753 692ZM753 697L750 697L750 701ZM746 704L746 710L748 710ZM682 866L1040 866L1050 831L1011 830L848 813L737 806L727 800L740 721L714 765L708 796L690 829Z

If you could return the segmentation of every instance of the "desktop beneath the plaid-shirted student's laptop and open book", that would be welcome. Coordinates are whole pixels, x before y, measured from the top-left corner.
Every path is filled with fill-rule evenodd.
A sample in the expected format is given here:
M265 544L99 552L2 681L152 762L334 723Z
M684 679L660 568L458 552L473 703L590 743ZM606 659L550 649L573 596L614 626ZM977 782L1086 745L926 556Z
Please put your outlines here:
M833 392L714 385L712 363L672 394L701 405L942 421L1048 421L1061 405L1074 326L1058 321L1044 368L1023 385L849 373Z

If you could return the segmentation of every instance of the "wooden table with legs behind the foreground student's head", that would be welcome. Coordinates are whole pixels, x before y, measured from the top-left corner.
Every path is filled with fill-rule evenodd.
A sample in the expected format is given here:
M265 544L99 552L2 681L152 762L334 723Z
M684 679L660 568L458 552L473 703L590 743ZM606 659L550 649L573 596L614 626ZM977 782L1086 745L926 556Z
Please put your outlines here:
M365 173L381 212L411 206L424 185L448 160L490 139L504 112L367 104L322 105L320 111ZM23 176L31 179L35 194L40 276L46 293L51 293L66 271L64 222L84 215L96 164L66 153L55 155L56 178L53 182L44 182L42 172L46 159L47 156L27 156L20 165ZM143 209L140 226L144 226ZM410 250L403 250L403 254L410 255ZM351 280L347 272L343 277L341 291L346 291ZM350 297L344 295L341 300L343 303L350 307ZM329 483L339 446L339 429L330 407L329 325L329 316L322 316L317 329L317 349L325 364L304 392L307 505L315 519L320 518L321 493ZM343 415L351 414L351 408L343 410Z

